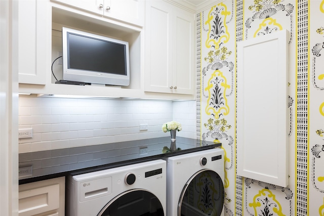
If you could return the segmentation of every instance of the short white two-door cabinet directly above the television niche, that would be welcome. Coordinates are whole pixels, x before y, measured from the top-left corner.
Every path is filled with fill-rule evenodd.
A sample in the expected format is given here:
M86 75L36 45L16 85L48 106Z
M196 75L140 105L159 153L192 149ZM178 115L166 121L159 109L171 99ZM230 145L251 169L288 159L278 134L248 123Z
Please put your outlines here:
M144 25L144 0L52 0L105 17Z

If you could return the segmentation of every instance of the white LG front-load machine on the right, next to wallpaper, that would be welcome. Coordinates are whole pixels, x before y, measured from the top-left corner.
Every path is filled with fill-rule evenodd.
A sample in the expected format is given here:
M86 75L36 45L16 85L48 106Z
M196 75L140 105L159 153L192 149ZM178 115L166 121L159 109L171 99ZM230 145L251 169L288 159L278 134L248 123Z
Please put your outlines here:
M167 215L224 215L224 150L166 157Z

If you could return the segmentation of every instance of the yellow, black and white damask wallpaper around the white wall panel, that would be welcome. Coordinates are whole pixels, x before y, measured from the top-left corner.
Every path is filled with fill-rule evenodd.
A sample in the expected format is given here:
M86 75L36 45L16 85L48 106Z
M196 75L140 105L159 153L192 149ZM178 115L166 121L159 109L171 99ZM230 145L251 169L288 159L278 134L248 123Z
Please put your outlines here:
M323 0L225 0L198 14L197 123L225 150L225 215L324 215L323 20ZM237 176L235 160L236 44L281 29L290 32L286 188Z

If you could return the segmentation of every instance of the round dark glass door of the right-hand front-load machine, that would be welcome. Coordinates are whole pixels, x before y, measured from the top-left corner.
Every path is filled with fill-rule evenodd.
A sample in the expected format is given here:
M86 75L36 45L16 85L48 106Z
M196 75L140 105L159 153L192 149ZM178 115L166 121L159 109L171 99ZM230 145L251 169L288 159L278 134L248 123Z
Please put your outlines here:
M193 175L183 188L178 215L219 216L224 205L224 184L217 172L203 169Z

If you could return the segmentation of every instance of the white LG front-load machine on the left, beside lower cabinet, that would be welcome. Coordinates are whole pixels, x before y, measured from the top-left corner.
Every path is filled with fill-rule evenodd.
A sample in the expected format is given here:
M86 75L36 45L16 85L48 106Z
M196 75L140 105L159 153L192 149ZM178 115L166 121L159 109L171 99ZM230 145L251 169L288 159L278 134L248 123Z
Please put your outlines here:
M67 215L166 216L165 160L69 176L67 180Z

